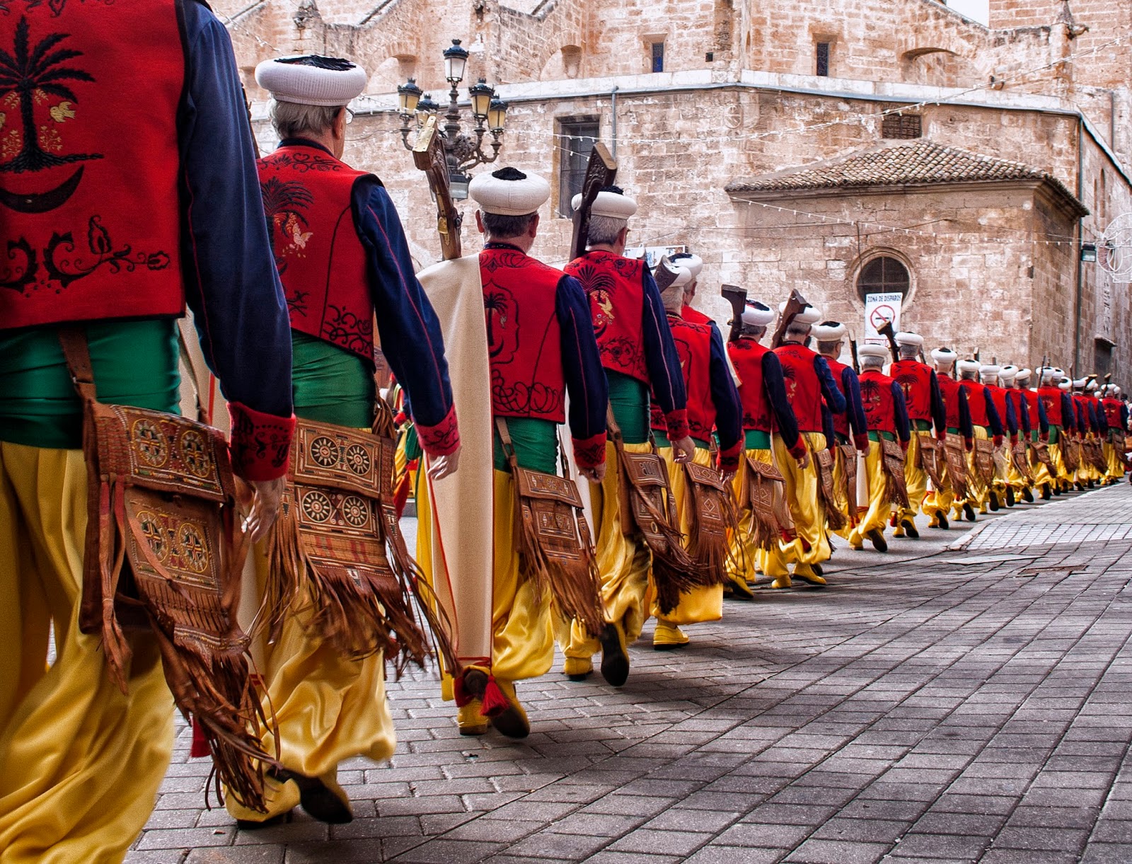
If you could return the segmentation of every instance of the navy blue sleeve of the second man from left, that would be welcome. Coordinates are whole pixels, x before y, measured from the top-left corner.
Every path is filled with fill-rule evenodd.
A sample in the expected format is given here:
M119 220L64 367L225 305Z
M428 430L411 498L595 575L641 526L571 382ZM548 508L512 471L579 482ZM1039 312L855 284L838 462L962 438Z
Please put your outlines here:
M440 323L413 274L397 211L377 178L354 183L352 205L358 237L366 249L381 352L405 390L413 422L419 434L423 431L422 446L436 452L429 446L428 430L451 425L453 416Z

